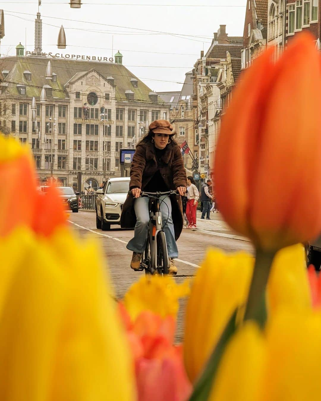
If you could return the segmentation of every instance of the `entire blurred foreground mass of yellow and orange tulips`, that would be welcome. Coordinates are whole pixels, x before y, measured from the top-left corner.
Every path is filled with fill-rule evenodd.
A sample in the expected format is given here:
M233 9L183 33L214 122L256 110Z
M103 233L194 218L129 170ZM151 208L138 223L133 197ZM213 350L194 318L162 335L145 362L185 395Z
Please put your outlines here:
M69 229L55 188L37 192L29 150L0 135L1 399L319 401L321 279L296 243L321 232L320 108L312 37L254 61L222 122L215 183L255 257L212 249L191 282L144 276L119 303L103 261L82 263L95 243Z

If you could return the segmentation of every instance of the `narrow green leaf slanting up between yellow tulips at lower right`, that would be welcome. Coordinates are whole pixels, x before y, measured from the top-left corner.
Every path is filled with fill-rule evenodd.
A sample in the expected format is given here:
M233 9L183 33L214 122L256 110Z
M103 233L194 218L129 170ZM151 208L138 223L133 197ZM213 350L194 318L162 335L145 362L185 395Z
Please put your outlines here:
M213 349L205 370L203 371L201 377L198 379L189 401L207 401L211 388L213 386L217 367L224 353L226 344L236 331L236 314L237 310L233 313L228 324L226 325L226 328L222 332L221 337L216 344L216 347Z

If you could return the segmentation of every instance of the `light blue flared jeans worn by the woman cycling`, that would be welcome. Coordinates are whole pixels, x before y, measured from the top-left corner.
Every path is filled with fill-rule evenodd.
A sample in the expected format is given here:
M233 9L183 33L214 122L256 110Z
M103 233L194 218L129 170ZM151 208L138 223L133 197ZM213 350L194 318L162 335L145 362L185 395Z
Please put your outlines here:
M134 238L132 238L126 246L130 251L143 253L145 250L149 223L148 203L149 198L145 197L136 198L134 201L134 210L137 221L135 225ZM178 257L178 249L175 241L172 205L169 196L160 196L160 211L162 213L162 223L166 237L168 255L169 257L176 258Z

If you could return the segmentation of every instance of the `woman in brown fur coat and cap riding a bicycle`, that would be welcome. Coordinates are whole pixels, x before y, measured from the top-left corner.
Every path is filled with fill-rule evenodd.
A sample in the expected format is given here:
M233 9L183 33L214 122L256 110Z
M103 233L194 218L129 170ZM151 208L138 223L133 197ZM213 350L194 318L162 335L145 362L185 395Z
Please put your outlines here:
M130 169L129 195L124 203L120 225L123 228L135 226L134 238L127 244L133 252L130 267L140 268L142 253L146 247L149 223L149 199L140 197L145 192L166 192L177 190L181 196L186 192L186 172L181 148L175 142L173 126L169 121L156 120L149 126L149 132L138 142ZM173 259L178 257L176 240L183 228L181 196L161 196L160 212L169 255L169 274L176 274Z

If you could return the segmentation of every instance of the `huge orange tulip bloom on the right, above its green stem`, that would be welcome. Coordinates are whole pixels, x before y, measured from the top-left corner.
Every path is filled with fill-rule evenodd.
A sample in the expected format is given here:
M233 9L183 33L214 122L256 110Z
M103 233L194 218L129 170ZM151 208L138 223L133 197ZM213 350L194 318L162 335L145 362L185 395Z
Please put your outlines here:
M244 73L215 156L221 213L265 251L321 231L320 56L310 34L273 56L265 51Z

